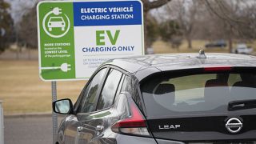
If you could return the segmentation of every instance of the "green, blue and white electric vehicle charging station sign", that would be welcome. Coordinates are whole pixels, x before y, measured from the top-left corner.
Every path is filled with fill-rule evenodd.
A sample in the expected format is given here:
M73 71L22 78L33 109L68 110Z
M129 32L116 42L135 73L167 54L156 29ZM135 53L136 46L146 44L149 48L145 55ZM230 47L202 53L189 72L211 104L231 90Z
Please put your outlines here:
M139 0L40 2L42 80L88 79L110 58L144 54L142 7Z

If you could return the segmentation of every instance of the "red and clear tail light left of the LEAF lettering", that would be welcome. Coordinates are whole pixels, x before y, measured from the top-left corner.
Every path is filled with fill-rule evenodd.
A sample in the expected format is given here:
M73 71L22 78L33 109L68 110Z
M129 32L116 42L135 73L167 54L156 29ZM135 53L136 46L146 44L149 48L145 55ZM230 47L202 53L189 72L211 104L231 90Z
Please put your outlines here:
M146 120L134 102L130 102L131 116L116 122L111 130L119 134L135 134L150 136L146 127Z

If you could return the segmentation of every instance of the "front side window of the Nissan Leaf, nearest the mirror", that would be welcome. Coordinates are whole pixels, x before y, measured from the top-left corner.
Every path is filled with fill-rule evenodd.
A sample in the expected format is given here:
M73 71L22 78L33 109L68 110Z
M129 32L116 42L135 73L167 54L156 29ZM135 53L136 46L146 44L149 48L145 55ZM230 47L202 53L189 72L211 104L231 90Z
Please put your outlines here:
M102 69L94 76L85 90L82 91L82 102L78 113L90 113L96 109L97 106L97 92L101 82L104 81L106 68Z

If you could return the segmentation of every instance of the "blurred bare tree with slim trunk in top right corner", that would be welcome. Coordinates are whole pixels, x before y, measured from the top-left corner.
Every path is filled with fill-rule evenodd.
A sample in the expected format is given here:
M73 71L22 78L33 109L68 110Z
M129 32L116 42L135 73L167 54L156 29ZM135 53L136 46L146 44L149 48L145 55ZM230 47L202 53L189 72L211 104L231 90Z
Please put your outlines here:
M245 0L205 0L205 5L222 24L223 35L229 42L229 51L233 49L234 38L255 38L255 3ZM249 37L248 37L249 36Z

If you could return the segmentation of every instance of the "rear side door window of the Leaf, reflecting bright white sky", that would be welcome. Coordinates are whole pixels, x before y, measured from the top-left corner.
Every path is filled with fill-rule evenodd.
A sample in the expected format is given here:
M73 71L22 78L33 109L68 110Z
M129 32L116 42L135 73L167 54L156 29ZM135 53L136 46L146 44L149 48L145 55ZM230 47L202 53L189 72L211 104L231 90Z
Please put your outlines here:
M118 90L118 84L121 80L122 73L118 70L111 69L106 82L103 86L102 93L100 94L100 98L98 100L98 108L97 110L105 109L111 106L114 102L114 96Z

